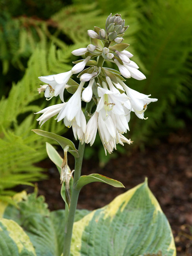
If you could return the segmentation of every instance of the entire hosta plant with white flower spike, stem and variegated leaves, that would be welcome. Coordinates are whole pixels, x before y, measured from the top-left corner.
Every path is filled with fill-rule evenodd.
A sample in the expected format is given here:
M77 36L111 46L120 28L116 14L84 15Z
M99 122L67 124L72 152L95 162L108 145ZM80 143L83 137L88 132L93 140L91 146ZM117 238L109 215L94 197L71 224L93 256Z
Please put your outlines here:
M103 208L76 210L79 192L86 184L104 182L124 187L121 182L98 173L81 176L85 143L93 145L98 131L105 154L111 154L118 143L131 144L131 139L123 135L129 131L131 112L147 119L144 112L148 104L157 101L125 83L124 78L146 79L138 65L130 60L133 55L127 50L129 45L123 42L127 29L121 15L110 14L105 29L88 30L90 44L72 52L83 59L75 61L70 71L39 77L45 83L38 88L39 93L44 93L50 101L58 96L61 100L36 113L42 114L37 119L39 124L57 115L57 122L72 127L79 147L76 149L71 140L57 134L33 130L55 140L64 150L61 158L46 143L48 156L60 172L65 210L50 212L44 198L37 197L37 189L31 195L25 192L15 195L17 207L1 203L0 255L176 255L169 223L148 188L147 179ZM112 69L110 63L116 64L118 70ZM80 83L71 78L76 74ZM65 89L72 94L68 101L65 101ZM68 153L75 158L73 171L67 163Z

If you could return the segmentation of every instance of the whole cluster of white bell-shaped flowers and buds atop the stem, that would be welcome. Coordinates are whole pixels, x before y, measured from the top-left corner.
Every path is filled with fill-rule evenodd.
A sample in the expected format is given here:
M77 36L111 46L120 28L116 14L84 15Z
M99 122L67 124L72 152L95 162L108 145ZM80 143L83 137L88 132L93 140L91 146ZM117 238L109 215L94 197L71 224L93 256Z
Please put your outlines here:
M118 143L132 143L131 139L123 136L129 131L130 113L135 112L139 118L147 119L144 118L147 105L157 99L149 98L151 95L139 93L123 82L124 78L131 77L146 79L138 70L138 65L130 60L133 54L126 50L129 45L122 43L127 29L121 15L110 14L105 30L99 27L88 30L91 44L72 51L72 54L84 56L84 59L74 62L74 67L68 72L39 77L46 83L38 89L39 93L45 91L46 98L59 95L63 102L37 112L43 113L37 119L39 124L58 114L56 120L63 120L65 126L72 127L75 139L90 145L94 143L98 130L105 153L112 153ZM95 57L97 59L93 60ZM103 67L105 61L116 64L119 71ZM76 82L71 79L73 74L79 74L80 84L75 85ZM65 88L76 90L67 102L64 101ZM82 111L82 101L94 102L93 110L87 115L88 122Z

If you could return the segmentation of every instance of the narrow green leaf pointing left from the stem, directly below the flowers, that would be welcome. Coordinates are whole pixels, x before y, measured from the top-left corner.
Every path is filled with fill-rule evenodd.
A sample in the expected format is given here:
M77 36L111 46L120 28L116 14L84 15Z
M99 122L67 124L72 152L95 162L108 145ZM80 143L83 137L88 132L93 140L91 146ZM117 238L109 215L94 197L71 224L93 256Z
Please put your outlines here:
M71 148L71 150L69 150L68 152L70 152L74 157L77 157L77 158L79 157L78 150L75 148L75 145L71 140L66 139L66 138L64 138L60 135L54 134L52 132L46 132L46 131L42 131L42 130L39 130L39 129L34 129L34 130L31 130L31 131L37 133L38 135L56 140L61 145L61 147L63 149L64 149L64 147L69 146L69 148Z

